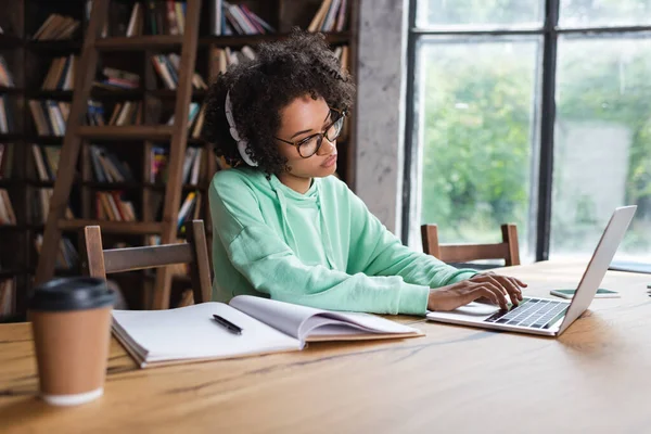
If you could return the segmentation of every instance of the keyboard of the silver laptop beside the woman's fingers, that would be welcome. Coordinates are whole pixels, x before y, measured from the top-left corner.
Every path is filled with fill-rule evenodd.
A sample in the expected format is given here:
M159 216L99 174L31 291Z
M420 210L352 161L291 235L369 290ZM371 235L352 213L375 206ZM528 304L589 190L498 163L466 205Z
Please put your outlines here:
M551 299L524 298L520 302L520 305L510 310L499 310L484 321L534 329L549 329L565 315L569 306L567 303Z

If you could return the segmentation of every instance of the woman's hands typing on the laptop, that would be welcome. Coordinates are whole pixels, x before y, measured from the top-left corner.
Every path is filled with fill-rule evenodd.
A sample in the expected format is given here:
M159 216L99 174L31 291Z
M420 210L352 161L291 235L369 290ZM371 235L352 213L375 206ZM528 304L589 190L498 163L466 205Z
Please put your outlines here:
M520 288L526 288L526 283L487 271L461 282L430 290L427 309L452 310L481 298L507 309L507 297L515 306L522 299Z

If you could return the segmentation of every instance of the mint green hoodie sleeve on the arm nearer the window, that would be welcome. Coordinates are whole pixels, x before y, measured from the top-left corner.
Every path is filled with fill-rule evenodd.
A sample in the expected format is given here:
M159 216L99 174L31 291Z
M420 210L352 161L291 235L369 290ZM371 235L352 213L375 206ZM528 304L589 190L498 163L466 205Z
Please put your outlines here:
M348 271L369 276L400 276L407 283L441 288L476 275L472 269L457 269L432 255L403 245L373 216L365 203L348 191L350 201L350 252Z

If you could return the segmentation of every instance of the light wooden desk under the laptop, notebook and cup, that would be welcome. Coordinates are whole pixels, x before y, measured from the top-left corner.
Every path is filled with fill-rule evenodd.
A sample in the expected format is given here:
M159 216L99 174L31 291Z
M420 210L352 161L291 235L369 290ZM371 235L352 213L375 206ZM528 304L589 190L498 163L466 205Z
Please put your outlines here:
M583 266L508 271L545 295ZM36 397L29 328L3 326L0 432L649 433L648 283L609 272L602 286L623 297L596 299L558 340L400 317L427 336L151 370L113 342L104 396L75 408Z

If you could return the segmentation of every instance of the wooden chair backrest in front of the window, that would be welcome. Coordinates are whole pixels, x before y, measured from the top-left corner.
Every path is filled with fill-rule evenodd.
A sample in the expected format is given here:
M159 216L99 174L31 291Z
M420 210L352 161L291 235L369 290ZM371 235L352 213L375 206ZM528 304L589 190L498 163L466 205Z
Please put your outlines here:
M439 244L436 225L422 225L423 251L444 263L467 263L480 259L505 259L507 266L520 265L518 227L502 225L502 242L496 244Z

